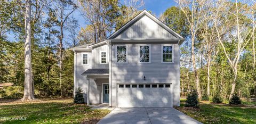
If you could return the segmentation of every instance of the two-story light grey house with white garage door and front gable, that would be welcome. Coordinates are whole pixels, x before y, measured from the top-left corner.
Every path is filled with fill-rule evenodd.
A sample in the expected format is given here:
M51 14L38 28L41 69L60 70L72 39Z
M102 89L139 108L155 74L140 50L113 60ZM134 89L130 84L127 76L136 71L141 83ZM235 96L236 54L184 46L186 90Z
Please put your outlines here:
M179 46L184 38L146 10L105 41L71 48L74 90L89 105L179 106Z

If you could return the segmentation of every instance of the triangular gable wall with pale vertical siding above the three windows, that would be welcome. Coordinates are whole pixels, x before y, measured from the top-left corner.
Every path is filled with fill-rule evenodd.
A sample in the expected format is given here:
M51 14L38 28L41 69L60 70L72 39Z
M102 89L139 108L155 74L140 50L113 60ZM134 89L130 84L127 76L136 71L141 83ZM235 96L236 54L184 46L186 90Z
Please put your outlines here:
M170 32L159 26L147 15L124 30L116 38L176 38Z

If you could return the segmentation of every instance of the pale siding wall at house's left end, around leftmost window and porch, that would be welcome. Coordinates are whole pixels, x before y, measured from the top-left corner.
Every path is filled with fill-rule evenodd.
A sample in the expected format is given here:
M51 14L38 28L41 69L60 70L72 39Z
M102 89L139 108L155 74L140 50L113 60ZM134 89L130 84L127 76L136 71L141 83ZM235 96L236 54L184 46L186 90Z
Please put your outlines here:
M82 54L88 53L88 59L89 63L88 65L82 64ZM83 89L84 93L84 100L86 102L87 100L87 83L88 80L86 79L86 76L83 76L82 73L92 68L92 53L90 51L82 51L77 52L77 67L76 67L76 88L81 87ZM108 79L90 79L90 103L102 103L102 83L108 83Z

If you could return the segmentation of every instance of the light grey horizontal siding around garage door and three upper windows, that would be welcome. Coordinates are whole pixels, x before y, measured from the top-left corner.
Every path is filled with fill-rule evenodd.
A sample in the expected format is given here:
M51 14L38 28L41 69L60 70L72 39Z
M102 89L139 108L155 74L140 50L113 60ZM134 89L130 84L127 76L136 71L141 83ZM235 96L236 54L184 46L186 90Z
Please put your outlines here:
M173 105L179 105L179 45L173 44L174 63L162 63L162 44L151 44L151 62L139 63L139 45L127 44L127 63L116 63L112 46L112 102L117 102L117 84L172 83ZM146 80L143 80L143 76Z

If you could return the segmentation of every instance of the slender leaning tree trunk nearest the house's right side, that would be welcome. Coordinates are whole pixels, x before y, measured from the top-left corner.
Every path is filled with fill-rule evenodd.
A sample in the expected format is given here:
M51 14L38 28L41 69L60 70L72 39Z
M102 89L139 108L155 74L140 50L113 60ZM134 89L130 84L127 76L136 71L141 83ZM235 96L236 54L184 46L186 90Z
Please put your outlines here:
M192 62L193 62L193 68L194 68L194 72L195 72L195 78L196 78L196 90L197 90L197 94L198 94L198 98L199 100L201 100L201 88L200 88L200 84L199 84L199 77L198 77L198 73L197 73L197 69L196 69L196 59L195 59L195 37L192 37L191 39L191 53L192 53Z

